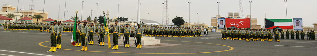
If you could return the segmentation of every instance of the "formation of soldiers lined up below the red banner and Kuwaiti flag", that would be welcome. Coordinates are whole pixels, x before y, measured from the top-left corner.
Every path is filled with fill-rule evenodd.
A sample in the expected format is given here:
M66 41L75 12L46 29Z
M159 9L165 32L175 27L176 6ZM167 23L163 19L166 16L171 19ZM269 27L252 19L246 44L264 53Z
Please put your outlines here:
M296 39L299 38L299 34L301 34L301 39L304 40L305 37L305 32L298 32L298 30L295 32L296 33ZM283 31L278 31L277 29L225 29L221 31L221 39L239 39L239 40L246 40L246 41L272 41L273 37L275 37L275 41L279 42L280 41L280 36L281 39L284 39L284 32ZM294 39L294 31L289 32L288 30L286 31L286 39L289 39L289 35L291 35L291 39ZM307 34L308 39L315 40L315 32L311 30L311 32L308 32ZM309 38L310 37L310 38Z

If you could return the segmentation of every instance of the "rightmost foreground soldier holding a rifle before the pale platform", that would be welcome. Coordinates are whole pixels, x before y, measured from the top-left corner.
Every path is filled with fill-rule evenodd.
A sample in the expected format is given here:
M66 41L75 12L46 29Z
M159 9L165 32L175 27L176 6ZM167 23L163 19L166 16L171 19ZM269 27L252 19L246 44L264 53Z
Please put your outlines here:
M137 37L137 45L138 45L136 48L142 48L141 38L142 38L142 35L143 35L143 32L142 32L143 30L140 29L140 25L141 24L138 24L138 28L135 29L135 31L134 31L134 33L136 34L134 36L134 38Z

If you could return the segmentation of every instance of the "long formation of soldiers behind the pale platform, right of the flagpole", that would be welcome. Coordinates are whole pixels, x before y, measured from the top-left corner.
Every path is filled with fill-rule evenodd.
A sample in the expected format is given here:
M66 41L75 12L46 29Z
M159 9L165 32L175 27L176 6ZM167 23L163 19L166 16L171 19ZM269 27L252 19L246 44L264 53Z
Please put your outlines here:
M146 26L143 27L144 36L157 36L157 37L199 37L202 30L200 28L190 27L159 27L159 26Z

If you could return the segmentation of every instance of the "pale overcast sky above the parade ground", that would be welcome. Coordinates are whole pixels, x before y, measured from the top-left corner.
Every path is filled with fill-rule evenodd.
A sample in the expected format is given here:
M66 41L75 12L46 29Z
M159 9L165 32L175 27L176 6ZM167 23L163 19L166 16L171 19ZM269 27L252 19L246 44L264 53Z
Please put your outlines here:
M12 4L17 7L18 0L0 0L0 4ZM83 3L81 1L84 1ZM286 6L284 0L242 0L243 3L243 17L250 15L251 3L251 17L257 18L258 25L261 27L265 24L264 18L272 19L285 19ZM140 0L140 18L150 19L162 23L162 3L164 0ZM190 4L188 2L191 2ZM206 23L210 25L211 17L216 17L218 14L221 17L228 16L228 12L239 12L239 0L169 0L168 1L168 15L169 23L176 16L183 17L185 22L191 23ZM303 26L314 26L317 23L317 0L288 0L287 4L287 18L303 18ZM18 9L29 9L31 0L20 0ZM97 11L97 4L98 11ZM44 0L34 0L35 10L43 10ZM65 0L45 0L44 11L51 12L49 15L53 19L64 19L64 11L68 11L65 15L65 20L70 19L76 15L81 20L86 20L92 14L92 17L103 16L102 12L109 10L109 18L118 17L118 4L119 17L128 17L129 19L136 20L138 0L67 0L65 9ZM59 11L60 6L60 12ZM189 12L190 6L190 12ZM82 9L83 8L83 9ZM91 11L93 10L93 11ZM82 12L81 12L82 11ZM58 18L60 13L60 18ZM190 14L189 14L190 13ZM198 15L198 14L199 15ZM149 16L150 14L150 16ZM82 15L82 16L81 16ZM199 16L199 17L198 17Z

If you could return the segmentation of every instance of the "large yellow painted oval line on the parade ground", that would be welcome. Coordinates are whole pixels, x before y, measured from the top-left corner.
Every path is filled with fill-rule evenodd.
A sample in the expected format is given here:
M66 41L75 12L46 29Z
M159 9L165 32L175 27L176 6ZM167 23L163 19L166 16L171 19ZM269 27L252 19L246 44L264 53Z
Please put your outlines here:
M68 39L70 40L70 39ZM176 41L176 40L162 40L162 41ZM50 41L44 41L44 42L50 42ZM40 42L39 45L43 46L42 43ZM191 41L178 41L178 42L191 42ZM192 42L192 43L203 43L203 42ZM212 44L212 43L204 43L204 44ZM213 45L220 45L220 44L213 44ZM225 45L220 45L220 46L225 46ZM43 46L43 47L48 47L48 46ZM227 46L230 47L230 46ZM48 47L50 48L50 47ZM229 50L223 50L223 51L214 51L214 52L201 52L201 53L215 53L215 52L224 52L224 51L230 51L233 50L233 47L230 47ZM72 49L63 49L63 50L72 50ZM80 50L73 50L73 51L80 51ZM87 51L87 52L102 52L102 51ZM126 52L102 52L102 53L126 53ZM135 54L197 54L197 53L135 53Z

